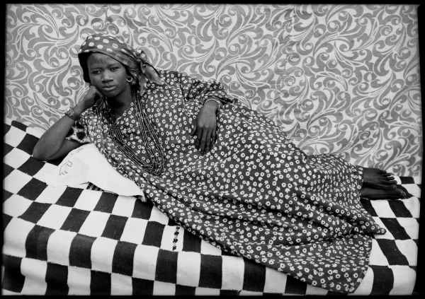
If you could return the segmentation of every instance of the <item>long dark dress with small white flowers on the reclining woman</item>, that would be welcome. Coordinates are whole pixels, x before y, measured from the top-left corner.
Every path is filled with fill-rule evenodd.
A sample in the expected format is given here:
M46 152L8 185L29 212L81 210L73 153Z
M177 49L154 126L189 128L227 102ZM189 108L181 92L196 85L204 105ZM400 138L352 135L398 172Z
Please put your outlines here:
M355 291L368 268L370 234L385 233L360 204L362 168L333 155L307 156L217 81L159 74L164 84L148 81L142 100L166 153L161 176L136 168L116 150L105 119L92 110L67 139L95 143L159 210L221 250L313 286ZM224 105L217 113L217 143L201 155L190 133L210 96ZM134 106L116 124L128 146L148 160Z

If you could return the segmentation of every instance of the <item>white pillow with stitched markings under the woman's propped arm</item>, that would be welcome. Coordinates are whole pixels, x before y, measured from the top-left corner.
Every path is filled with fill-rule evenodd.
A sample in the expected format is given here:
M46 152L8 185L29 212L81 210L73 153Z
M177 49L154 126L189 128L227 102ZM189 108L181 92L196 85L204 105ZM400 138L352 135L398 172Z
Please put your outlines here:
M57 165L55 171L44 176L46 184L57 186L73 186L91 182L105 191L118 195L141 195L146 201L145 194L135 182L120 175L108 160L98 151L94 143L70 151Z

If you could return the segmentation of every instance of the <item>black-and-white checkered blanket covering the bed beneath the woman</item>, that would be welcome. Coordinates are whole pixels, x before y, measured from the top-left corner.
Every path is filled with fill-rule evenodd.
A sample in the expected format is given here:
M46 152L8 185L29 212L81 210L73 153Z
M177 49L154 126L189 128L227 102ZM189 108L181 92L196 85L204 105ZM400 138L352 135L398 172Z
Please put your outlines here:
M60 160L31 157L40 135L18 122L4 125L4 295L332 294L218 250L149 201L88 184L47 186L42 177ZM362 200L387 233L374 236L369 269L354 294L414 290L421 184L396 180L408 199Z

